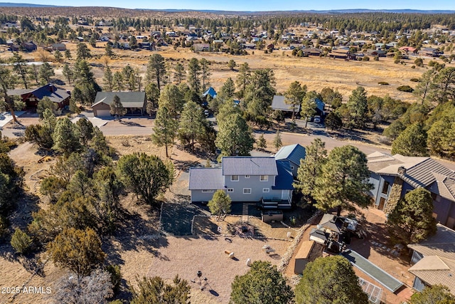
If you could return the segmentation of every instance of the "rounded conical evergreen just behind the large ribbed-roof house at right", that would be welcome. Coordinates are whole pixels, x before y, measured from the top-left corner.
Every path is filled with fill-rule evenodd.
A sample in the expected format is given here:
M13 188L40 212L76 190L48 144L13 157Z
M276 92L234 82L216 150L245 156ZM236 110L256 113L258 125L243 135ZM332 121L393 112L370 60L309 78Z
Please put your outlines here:
M404 156L427 156L427 132L422 122L415 122L407 127L392 142L392 154Z

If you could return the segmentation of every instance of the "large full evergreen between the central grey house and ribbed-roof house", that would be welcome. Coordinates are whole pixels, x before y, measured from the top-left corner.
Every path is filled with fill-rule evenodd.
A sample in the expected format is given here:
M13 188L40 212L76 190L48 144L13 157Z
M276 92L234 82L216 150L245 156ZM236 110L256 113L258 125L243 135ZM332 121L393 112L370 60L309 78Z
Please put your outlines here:
M365 192L372 187L369 178L367 157L363 152L350 145L333 148L321 174L316 177L312 194L316 207L323 211L337 207L339 216L341 209L353 209L350 202L368 206L370 197Z

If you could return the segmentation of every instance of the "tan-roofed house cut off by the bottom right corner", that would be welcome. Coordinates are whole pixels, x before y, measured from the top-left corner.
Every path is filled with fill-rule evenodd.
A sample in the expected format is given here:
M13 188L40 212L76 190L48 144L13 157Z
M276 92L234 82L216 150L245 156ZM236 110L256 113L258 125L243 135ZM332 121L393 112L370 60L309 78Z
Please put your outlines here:
M408 269L415 276L412 287L422 291L425 286L442 284L455 295L455 231L437 224L434 236L407 247L414 264Z

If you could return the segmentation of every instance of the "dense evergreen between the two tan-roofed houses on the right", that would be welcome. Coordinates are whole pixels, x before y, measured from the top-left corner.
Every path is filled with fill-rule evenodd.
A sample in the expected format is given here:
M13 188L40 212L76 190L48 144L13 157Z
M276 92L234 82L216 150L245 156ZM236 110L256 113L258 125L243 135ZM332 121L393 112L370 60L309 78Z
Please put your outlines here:
M408 192L387 216L387 229L397 243L417 243L436 233L432 194L424 188Z

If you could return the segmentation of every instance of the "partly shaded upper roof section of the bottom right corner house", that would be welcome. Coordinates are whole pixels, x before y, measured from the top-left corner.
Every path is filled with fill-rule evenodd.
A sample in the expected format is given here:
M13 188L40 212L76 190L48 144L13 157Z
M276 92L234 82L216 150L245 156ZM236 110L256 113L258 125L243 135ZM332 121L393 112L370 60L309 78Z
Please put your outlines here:
M420 243L412 243L407 247L422 253L424 256L439 256L455 260L455 231L437 224L437 232Z

